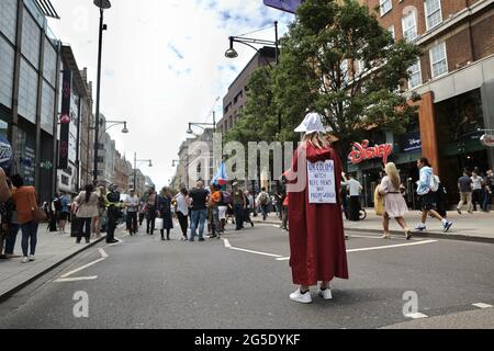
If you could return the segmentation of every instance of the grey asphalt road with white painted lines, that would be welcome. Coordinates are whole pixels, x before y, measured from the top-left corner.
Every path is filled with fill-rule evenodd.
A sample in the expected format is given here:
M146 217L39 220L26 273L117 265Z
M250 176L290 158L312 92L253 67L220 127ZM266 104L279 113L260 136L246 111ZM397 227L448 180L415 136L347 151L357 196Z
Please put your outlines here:
M494 308L473 306L494 305L490 244L352 234L350 280L333 283L333 301L314 288L314 303L300 305L289 299L295 286L280 229L258 225L227 241L179 237L175 229L171 241L141 235L92 248L1 304L0 328L494 328ZM406 292L426 318L404 316ZM75 317L80 296L88 318Z

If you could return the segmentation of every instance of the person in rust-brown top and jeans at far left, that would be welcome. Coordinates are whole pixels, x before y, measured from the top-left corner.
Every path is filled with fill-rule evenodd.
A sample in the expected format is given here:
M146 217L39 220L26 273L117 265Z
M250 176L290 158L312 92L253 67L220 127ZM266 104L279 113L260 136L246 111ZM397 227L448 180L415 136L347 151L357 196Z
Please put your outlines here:
M15 190L12 200L18 211L18 222L22 233L22 263L35 260L37 244L37 222L33 210L37 207L37 194L34 186L24 186L20 174L12 176L12 185Z

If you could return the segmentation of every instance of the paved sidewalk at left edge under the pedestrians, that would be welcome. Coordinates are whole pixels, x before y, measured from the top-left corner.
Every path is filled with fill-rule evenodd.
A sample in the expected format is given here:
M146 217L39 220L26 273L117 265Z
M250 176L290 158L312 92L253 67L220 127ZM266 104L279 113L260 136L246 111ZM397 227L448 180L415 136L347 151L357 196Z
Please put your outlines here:
M21 263L21 257L10 260L0 259L0 303L104 238L103 236L100 239L93 239L89 245L76 244L76 238L71 238L70 234L49 233L46 225L41 225L37 231L36 260L34 262ZM14 254L22 254L21 239L22 235L19 231Z

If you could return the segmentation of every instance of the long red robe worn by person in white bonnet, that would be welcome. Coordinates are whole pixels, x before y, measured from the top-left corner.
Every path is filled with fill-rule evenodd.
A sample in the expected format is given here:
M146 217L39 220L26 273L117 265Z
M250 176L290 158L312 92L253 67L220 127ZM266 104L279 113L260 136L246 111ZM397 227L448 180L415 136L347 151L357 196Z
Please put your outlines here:
M341 183L341 163L332 147L318 149L305 143L311 162L334 160L336 194ZM297 151L292 170L297 171ZM306 167L306 166L305 166ZM341 214L341 201L337 204L310 204L307 186L303 192L290 192L290 265L293 283L317 285L318 281L332 281L335 276L348 279L347 251Z

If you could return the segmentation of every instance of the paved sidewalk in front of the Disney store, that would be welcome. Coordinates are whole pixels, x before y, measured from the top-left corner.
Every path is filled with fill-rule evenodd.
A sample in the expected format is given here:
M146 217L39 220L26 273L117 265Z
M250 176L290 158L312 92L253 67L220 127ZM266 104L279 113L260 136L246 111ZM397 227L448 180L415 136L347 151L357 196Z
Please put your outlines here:
M382 217L377 216L374 208L366 208L367 218L361 222L344 220L345 229L349 231L366 231L382 234ZM439 220L435 218L427 218L427 231L416 233L415 227L420 222L420 214L418 211L409 211L405 214L405 220L408 227L414 231L415 236L425 236L433 238L448 238L458 240L485 241L494 244L494 212L468 214L463 212L462 215L456 211L448 212L448 218L453 223L448 234L442 233L442 227ZM256 223L262 223L262 217L252 217ZM268 224L280 224L276 214L271 213L267 219ZM390 220L390 229L393 235L403 235L403 230L396 220Z

